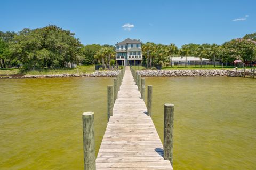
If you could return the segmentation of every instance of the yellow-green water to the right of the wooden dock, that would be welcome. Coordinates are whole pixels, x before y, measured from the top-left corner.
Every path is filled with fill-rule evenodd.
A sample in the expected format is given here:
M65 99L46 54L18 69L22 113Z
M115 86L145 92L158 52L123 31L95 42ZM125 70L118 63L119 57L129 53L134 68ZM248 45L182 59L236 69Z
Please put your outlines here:
M256 169L256 80L153 77L153 121L174 108L174 169Z

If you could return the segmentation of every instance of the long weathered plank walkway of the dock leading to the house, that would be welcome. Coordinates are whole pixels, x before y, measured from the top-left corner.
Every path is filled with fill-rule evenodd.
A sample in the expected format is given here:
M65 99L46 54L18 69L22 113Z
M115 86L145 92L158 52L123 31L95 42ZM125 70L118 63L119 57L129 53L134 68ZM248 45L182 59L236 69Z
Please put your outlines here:
M96 169L173 169L163 158L162 142L127 66Z

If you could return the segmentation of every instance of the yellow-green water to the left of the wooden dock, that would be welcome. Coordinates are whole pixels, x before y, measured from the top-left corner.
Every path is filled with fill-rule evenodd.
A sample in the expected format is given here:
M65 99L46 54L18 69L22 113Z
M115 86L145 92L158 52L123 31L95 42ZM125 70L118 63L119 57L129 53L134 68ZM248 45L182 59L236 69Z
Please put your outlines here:
M83 169L82 113L98 151L112 78L0 80L0 169Z

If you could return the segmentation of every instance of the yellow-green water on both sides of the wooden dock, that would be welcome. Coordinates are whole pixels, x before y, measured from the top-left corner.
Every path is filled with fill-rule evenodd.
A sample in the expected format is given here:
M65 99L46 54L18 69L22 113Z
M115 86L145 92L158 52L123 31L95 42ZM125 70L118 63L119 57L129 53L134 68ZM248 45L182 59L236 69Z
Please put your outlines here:
M94 111L98 151L112 78L0 80L0 169L83 169L82 112ZM153 77L153 120L175 104L175 169L255 169L256 81Z

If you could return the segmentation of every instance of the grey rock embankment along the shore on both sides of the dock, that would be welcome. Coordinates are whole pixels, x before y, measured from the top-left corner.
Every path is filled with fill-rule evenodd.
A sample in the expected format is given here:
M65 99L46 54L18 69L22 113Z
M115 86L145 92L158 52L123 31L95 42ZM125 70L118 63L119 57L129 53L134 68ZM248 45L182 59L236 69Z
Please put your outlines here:
M81 73L81 74L51 74L51 75L23 75L23 76L6 76L0 77L0 79L23 79L23 78L58 78L58 77L116 77L118 71L95 71L92 73ZM210 77L210 76L227 76L227 70L137 70L138 74L142 77Z

